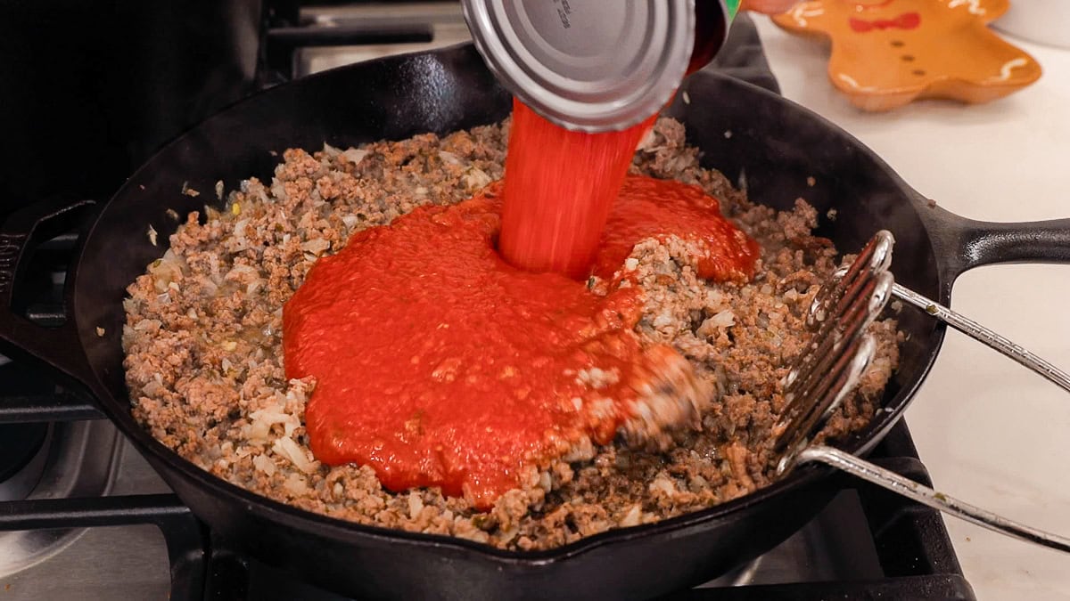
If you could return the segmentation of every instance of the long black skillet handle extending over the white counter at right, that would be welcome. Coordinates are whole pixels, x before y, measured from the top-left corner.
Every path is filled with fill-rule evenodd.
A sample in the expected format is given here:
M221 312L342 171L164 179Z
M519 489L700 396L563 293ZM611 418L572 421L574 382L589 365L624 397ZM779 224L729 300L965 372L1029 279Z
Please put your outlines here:
M1002 263L1070 263L1070 218L997 224L938 206L923 213L950 284L964 272Z

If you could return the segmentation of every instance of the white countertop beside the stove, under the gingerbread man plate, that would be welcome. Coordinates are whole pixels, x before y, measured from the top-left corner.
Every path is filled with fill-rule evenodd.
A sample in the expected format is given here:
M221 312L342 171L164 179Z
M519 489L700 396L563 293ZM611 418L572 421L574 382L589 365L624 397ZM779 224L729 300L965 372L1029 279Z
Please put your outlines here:
M989 105L927 101L873 114L832 89L827 46L755 20L786 97L853 134L945 209L993 221L1070 217L1070 50L1008 37L1043 67L1033 87ZM997 266L965 274L952 306L1070 369L1068 297L1070 266ZM1070 536L1066 392L951 333L906 420L942 490ZM1070 598L1070 556L946 522L979 599Z

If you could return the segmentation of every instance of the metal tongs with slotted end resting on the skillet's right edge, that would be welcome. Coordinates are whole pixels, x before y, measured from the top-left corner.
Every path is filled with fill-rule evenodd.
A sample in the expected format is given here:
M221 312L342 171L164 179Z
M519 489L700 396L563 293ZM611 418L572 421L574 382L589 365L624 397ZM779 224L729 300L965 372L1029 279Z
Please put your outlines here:
M784 377L785 409L774 427L777 475L805 463L824 463L891 492L979 526L1070 553L1070 539L997 515L842 450L811 445L825 420L857 387L876 351L868 326L897 296L951 327L988 344L1070 391L1070 376L984 326L895 282L888 266L895 238L880 231L854 262L834 274L807 314L813 333L807 351Z

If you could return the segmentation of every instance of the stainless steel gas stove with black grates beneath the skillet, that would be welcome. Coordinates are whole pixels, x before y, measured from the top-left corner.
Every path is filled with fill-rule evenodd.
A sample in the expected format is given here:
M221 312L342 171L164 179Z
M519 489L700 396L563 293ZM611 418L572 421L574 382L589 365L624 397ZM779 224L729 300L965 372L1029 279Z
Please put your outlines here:
M456 2L280 3L265 15L260 88L468 40ZM745 17L714 68L777 89ZM37 249L31 320L62 321L74 244L67 234ZM872 457L929 482L904 423ZM832 482L834 500L780 546L670 598L974 599L937 512L845 477ZM0 599L117 597L342 599L232 552L91 399L32 365L0 358Z

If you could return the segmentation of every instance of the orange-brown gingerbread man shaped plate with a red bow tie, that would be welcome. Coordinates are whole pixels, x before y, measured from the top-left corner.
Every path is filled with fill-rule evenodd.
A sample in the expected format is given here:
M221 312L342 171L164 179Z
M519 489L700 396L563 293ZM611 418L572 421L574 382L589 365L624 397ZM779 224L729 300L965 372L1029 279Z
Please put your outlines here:
M1008 7L1008 0L812 0L773 20L829 38L832 84L878 111L916 98L985 103L1036 81L1037 61L988 28Z

